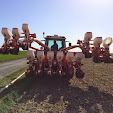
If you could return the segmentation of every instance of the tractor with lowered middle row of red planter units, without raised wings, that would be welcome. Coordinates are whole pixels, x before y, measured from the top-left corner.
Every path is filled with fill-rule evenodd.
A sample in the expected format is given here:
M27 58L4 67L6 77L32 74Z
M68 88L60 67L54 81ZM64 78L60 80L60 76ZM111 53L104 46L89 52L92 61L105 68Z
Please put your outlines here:
M68 52L66 49L66 38L64 36L46 36L43 50L37 50L35 53L28 51L28 59L30 59L30 67L26 72L26 76L35 73L36 76L53 76L71 79L74 75L74 67L76 68L76 77L83 78L84 73L81 70L82 52ZM53 50L54 42L58 45L58 50ZM41 43L41 42L40 42ZM69 43L71 45L71 43ZM47 49L48 48L48 49ZM35 58L35 61L34 61ZM33 71L33 68L35 70ZM31 70L31 71L30 71Z

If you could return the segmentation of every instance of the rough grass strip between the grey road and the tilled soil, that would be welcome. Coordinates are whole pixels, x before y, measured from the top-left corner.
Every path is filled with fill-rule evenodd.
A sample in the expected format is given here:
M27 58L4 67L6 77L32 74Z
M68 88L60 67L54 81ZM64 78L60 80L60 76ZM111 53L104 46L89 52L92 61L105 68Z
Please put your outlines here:
M17 76L26 71L27 68L28 66L19 69L18 71L8 75L7 77L4 77L2 80L0 80L0 87L7 85L6 83L4 84L3 81L8 81L8 83L10 83ZM30 82L31 80L26 79L26 77L23 75L12 86L10 86L0 94L0 113L9 112L10 108L21 99L22 93L25 91Z

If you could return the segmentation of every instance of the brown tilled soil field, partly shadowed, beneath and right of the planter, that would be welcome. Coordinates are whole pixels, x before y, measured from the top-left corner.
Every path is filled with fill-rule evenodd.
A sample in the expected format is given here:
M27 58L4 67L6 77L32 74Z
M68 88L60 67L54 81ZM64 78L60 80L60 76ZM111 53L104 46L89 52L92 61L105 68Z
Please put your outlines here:
M12 113L113 113L113 64L83 59L85 77L35 79Z

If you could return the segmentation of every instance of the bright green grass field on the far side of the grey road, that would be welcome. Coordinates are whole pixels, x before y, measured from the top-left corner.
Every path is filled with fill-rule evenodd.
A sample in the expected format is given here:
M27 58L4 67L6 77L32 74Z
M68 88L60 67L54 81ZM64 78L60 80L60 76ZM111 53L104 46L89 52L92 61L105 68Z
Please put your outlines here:
M0 63L10 61L10 60L16 60L16 59L20 59L20 58L25 58L26 56L27 56L27 51L20 51L19 55L0 54Z

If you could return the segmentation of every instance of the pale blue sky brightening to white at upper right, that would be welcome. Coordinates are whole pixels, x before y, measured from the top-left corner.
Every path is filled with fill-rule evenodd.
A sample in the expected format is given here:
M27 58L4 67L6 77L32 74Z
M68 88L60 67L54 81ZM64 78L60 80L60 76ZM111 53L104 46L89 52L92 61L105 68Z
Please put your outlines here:
M113 0L0 0L0 14L0 31L7 27L22 32L22 24L27 23L38 40L43 40L43 32L65 36L72 45L86 32L92 32L92 39L113 38ZM3 42L0 33L0 46Z

